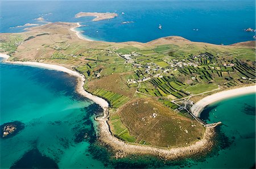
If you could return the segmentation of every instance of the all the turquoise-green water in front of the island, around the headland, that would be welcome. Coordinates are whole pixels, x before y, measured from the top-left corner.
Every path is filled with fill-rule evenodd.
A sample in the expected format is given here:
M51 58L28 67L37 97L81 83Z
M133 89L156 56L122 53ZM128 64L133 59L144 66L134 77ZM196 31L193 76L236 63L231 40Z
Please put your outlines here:
M9 64L0 64L0 73L0 124L24 123L16 136L1 139L1 168L251 168L255 164L255 94L222 100L203 111L205 121L222 122L217 147L207 156L178 162L136 155L116 160L96 141L93 117L102 109L76 93L75 77Z

